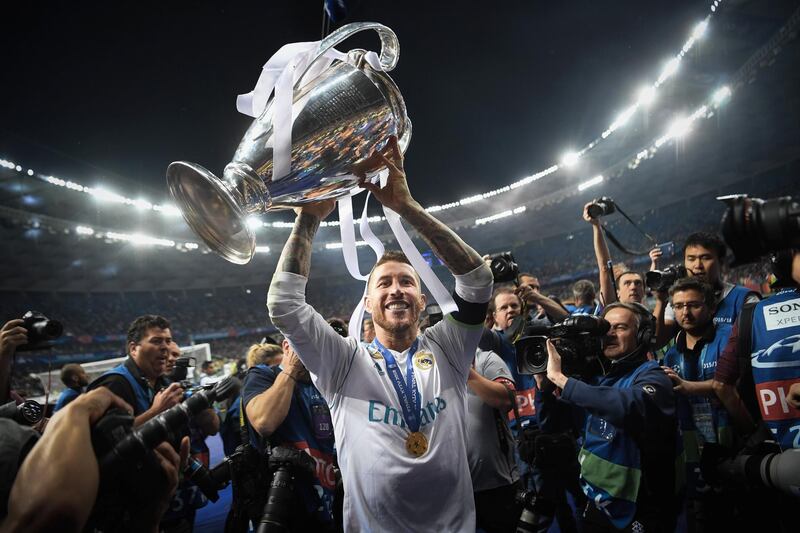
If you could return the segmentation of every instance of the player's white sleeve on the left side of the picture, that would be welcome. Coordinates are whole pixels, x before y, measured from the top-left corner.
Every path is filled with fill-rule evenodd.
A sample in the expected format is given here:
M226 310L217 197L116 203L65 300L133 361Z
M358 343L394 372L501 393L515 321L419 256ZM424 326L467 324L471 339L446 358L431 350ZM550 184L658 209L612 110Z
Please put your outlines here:
M272 323L286 337L311 372L314 385L330 402L341 387L358 349L358 340L344 338L328 325L305 298L308 279L291 272L273 276L267 295Z

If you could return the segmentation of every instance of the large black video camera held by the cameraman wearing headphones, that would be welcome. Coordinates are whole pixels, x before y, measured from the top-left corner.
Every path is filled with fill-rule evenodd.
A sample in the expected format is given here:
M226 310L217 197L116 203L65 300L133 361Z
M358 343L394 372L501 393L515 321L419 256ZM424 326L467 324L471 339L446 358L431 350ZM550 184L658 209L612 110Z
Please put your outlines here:
M594 315L576 315L552 326L529 325L514 343L520 374L547 372L547 339L561 354L561 370L567 376L587 378L603 373L602 341L611 325Z

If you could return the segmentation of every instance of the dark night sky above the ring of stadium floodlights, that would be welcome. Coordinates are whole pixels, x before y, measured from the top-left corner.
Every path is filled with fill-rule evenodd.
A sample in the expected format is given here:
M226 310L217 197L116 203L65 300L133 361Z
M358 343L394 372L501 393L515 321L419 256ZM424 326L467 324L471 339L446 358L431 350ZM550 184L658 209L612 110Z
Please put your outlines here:
M348 22L380 22L400 39L391 76L414 123L406 167L426 205L508 184L592 140L709 5L351 3ZM222 169L250 121L236 95L282 44L321 32L321 0L21 4L4 7L0 32L0 156L129 194L140 183L153 201L173 160ZM378 40L340 49L356 46Z

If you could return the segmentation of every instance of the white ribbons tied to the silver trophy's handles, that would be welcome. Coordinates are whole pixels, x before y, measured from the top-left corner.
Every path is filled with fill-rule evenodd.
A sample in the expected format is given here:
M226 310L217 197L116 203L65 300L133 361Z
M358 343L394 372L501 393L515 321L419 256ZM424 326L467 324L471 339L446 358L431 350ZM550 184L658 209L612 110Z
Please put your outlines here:
M346 54L331 48L325 52L324 56L309 66L309 61L313 60L321 41L290 43L282 46L264 64L261 75L256 82L255 88L247 93L241 94L236 98L236 109L245 115L257 118L264 112L273 90L275 92L273 124L274 124L274 145L273 150L273 180L280 179L291 170L291 147L292 147L292 126L294 117L292 116L292 99L298 77L305 73L304 77L312 79L318 76L324 69L336 59L344 61ZM380 58L375 52L367 52L364 59L370 67L382 71ZM384 170L379 174L381 187L386 185L388 171ZM361 274L358 266L358 253L356 251L355 230L353 223L353 204L351 196L363 191L356 188L350 194L339 198L339 228L342 240L342 255L347 270L353 278L366 282L369 273ZM361 215L360 233L364 241L375 252L376 258L383 255L384 247L369 226L367 217L367 206L369 204L369 194L364 202L364 210ZM449 314L457 310L453 297L444 287L436 274L419 253L416 246L403 228L400 216L391 209L384 206L384 215L389 227L397 239L403 253L406 254L411 265L417 271L420 279L428 287L431 295L441 307L444 314ZM349 334L357 339L361 338L361 321L364 317L364 298L368 287L365 284L364 293L359 300L353 314L350 317Z

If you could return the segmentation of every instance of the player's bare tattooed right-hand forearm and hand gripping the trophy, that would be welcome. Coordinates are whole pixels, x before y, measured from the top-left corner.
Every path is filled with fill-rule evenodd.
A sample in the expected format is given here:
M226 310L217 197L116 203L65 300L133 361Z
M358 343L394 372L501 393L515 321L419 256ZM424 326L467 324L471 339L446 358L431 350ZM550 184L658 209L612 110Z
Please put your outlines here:
M389 169L386 186L362 182L361 186L370 191L380 203L403 217L422 239L439 256L453 274L466 274L483 264L481 256L456 233L426 212L414 200L408 190L406 174L403 170L403 155L397 145L397 138L390 137L384 149L386 154L374 152L365 163L366 167L377 165Z

